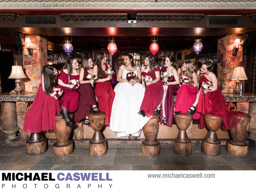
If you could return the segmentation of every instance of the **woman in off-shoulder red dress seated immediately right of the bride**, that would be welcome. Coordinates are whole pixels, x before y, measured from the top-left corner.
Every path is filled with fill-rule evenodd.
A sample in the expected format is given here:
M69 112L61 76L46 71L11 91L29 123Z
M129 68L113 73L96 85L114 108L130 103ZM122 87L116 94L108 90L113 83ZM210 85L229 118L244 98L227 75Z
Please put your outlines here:
M154 56L147 55L145 57L144 65L141 67L141 74L142 85L144 87L146 86L146 90L138 114L149 118L154 114L158 94L163 86L163 83L160 81L160 70L155 62ZM152 78L152 82L144 82L147 75Z

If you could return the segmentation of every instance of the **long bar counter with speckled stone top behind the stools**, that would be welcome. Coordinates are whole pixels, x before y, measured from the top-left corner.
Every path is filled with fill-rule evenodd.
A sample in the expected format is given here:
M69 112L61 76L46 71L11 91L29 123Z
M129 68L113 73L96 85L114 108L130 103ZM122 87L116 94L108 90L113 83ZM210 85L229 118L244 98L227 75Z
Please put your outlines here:
M32 102L35 98L35 93L21 93L20 95L9 95L9 93L0 93L0 101L1 102L16 102L16 107L17 107L17 118L18 118L18 126L19 126L19 132L20 132L20 140L25 141L29 138L29 134L25 133L23 130L24 127L24 118L25 114L28 112L28 105L30 102ZM250 93L243 93L242 95L237 95L237 94L230 94L230 93L223 93L225 96L228 108L230 110L240 110L245 113L248 113L249 110L249 103L256 103L256 94L250 94ZM175 101L176 97L174 97ZM2 110L1 110L2 111ZM249 113L250 114L250 113ZM256 116L252 116L254 118ZM255 122L251 122L251 125L255 125ZM251 127L251 126L250 126ZM254 129L252 129L252 132ZM159 141L166 141L170 142L170 140L173 141L177 137L177 134L179 132L178 127L173 124L172 127L166 126L166 125L160 125L159 124L159 130L156 139ZM193 121L193 127L191 131L191 139L195 139L197 141L201 141L207 134L207 129L199 129L198 128L198 121ZM249 129L250 132L250 129ZM90 125L82 125L76 124L75 127L75 133L74 133L74 139L80 141L81 143L88 143L89 140L91 139L94 131L90 127ZM44 132L45 137L48 139L53 139L56 140L56 136L53 131L48 131ZM127 137L121 137L117 138L116 133L112 132L109 129L109 125L105 125L102 129L102 134L106 139L113 139L113 143L111 146L111 141L108 141L108 146L111 147L120 147L120 141L126 141ZM228 130L220 128L217 131L217 135L219 139L229 139L230 136L228 134ZM145 139L145 136L143 132L140 133L140 136L138 137L137 140L135 141L140 141L140 139ZM115 142L116 141L116 142ZM130 141L131 146L135 146L138 143L135 141ZM128 142L128 141L127 141ZM224 142L224 141L223 141ZM129 144L128 143L128 144ZM173 143L173 142L172 142ZM126 146L126 145L125 145ZM129 146L129 145L128 145ZM164 143L163 146L164 147Z

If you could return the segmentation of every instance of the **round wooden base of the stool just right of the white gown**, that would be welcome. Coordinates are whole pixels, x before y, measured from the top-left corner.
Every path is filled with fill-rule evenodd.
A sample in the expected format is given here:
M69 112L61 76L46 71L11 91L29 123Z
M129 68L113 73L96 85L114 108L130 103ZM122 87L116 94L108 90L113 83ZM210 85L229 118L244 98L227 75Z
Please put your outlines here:
M148 144L146 140L142 141L141 152L145 156L157 156L160 153L160 142L155 141L153 144Z

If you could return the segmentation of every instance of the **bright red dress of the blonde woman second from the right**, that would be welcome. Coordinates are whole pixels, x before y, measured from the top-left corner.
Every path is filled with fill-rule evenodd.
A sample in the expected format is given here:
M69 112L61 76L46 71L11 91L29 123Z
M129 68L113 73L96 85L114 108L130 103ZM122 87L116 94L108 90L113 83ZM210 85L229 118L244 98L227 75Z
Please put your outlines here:
M180 75L181 76L181 75ZM187 111L191 108L193 103L196 101L196 94L198 88L192 87L188 84L181 84L179 90L177 90L177 96L175 101L175 112L180 111L180 113L187 113ZM196 112L193 115L193 119L199 119L200 114Z

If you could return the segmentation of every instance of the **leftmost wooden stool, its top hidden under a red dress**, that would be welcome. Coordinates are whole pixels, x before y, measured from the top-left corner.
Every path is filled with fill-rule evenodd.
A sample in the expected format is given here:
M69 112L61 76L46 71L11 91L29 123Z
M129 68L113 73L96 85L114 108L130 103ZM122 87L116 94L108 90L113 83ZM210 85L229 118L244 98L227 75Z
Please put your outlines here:
M43 154L47 150L46 138L42 133L31 133L26 141L26 152L28 155Z

